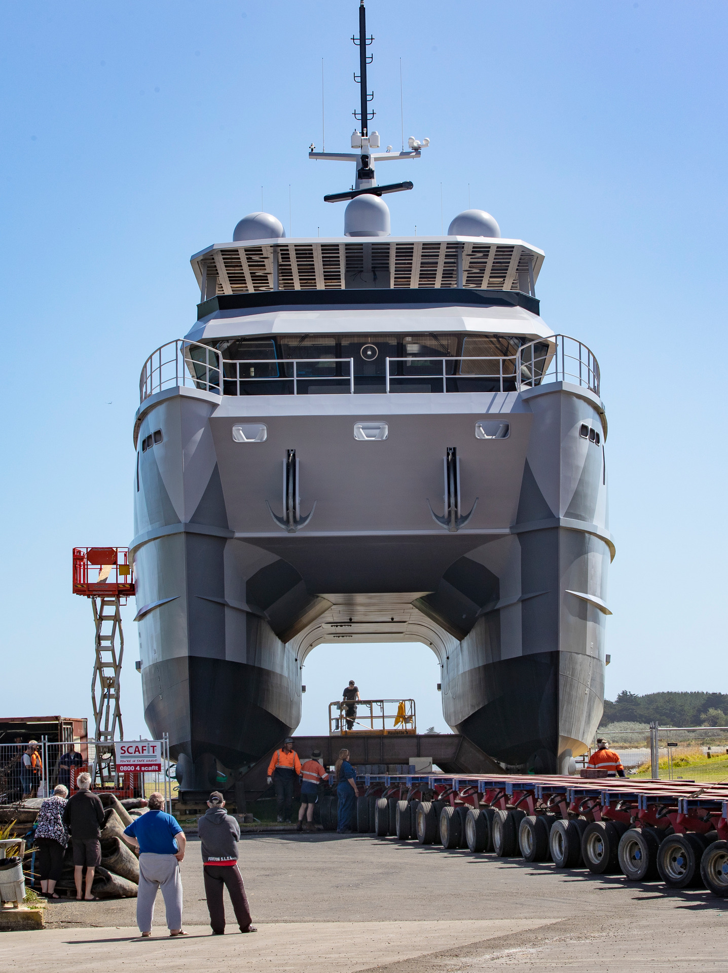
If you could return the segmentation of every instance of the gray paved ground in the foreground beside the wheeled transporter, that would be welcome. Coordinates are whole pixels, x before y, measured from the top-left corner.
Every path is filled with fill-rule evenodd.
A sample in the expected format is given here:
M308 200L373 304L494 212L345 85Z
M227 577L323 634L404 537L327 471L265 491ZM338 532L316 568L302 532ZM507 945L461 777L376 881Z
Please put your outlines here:
M240 935L230 910L231 935L210 937L200 843L187 848L188 939L167 938L161 896L155 935L143 942L134 938L135 900L62 901L49 905L47 930L0 935L0 969L54 973L72 963L91 973L107 951L115 966L138 964L143 951L160 970L229 960L270 973L728 968L728 900L705 889L364 835L246 837L240 870L259 931Z

